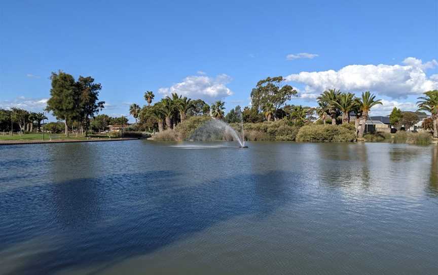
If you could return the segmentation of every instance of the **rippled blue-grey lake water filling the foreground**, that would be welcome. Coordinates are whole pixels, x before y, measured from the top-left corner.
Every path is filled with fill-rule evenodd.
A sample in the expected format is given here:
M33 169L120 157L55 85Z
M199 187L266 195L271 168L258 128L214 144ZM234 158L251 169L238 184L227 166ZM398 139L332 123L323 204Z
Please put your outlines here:
M438 147L0 146L0 274L437 274Z

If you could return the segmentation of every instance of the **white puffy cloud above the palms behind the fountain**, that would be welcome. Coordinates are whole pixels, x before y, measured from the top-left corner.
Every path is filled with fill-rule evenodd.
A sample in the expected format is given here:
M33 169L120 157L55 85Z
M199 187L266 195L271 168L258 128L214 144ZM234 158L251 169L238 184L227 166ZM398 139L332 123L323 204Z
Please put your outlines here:
M208 76L189 76L181 82L167 88L160 88L158 92L163 95L177 93L193 99L202 99L206 102L213 102L232 95L233 92L226 86L231 81L231 77L222 74L215 78Z

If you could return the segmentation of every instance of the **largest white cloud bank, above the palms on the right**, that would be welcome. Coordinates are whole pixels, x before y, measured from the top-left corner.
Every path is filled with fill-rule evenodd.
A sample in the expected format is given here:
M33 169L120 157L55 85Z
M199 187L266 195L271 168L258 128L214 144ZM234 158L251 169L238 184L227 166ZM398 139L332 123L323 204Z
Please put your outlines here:
M423 63L408 57L404 65L348 65L339 71L301 72L286 77L286 81L305 84L301 97L313 98L325 89L362 92L370 90L390 98L406 98L438 89L438 77L427 77L425 70L438 65L436 60Z

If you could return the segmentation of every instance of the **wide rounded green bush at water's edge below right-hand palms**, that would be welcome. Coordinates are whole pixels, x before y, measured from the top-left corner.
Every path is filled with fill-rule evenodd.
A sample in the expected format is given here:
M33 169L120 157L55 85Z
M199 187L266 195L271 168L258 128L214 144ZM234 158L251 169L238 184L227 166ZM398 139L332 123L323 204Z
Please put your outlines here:
M354 126L346 125L305 125L297 134L300 142L352 142L356 139Z

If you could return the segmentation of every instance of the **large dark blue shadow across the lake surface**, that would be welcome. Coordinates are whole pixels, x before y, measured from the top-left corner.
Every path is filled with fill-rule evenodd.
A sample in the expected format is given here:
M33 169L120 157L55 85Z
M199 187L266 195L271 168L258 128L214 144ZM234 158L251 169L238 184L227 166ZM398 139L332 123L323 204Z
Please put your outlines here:
M50 235L54 244L11 274L115 264L240 215L266 216L293 201L297 177L270 171L193 184L153 171L16 188L0 200L0 252Z

